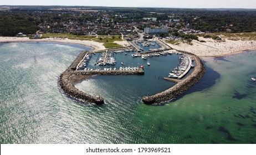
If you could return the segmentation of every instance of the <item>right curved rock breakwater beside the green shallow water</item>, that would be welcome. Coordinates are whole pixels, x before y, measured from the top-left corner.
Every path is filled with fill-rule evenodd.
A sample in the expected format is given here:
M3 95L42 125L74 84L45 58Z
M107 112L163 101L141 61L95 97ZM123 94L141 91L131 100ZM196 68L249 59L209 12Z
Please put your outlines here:
M191 86L196 84L206 72L202 60L196 55L192 55L196 63L196 67L193 72L183 80L172 80L170 78L165 78L166 80L177 82L176 85L172 86L170 89L159 92L152 96L142 97L142 101L145 104L161 105L167 101L174 99L176 96L181 95L186 90L190 89Z

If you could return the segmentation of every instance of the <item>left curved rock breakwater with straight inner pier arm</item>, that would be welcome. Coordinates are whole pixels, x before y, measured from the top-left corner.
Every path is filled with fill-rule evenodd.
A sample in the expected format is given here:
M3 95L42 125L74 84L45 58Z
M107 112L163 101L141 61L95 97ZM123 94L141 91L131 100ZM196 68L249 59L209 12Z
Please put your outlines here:
M81 77L86 78L86 77L89 77L90 75L143 75L144 74L144 70L141 70L141 69L140 70L111 70L111 71L105 71L105 70L76 71L76 66L78 66L80 61L84 58L84 56L87 53L88 53L87 51L83 51L82 53L80 53L78 57L74 60L74 62L69 66L69 68L65 70L64 73L62 73L59 78L59 85L61 89L69 96L74 97L75 99L78 99L80 101L85 101L85 102L89 102L97 105L104 104L103 97L89 95L84 91L76 89L76 87L73 84L74 79L76 79L76 76L82 75L80 76L80 80L81 80Z

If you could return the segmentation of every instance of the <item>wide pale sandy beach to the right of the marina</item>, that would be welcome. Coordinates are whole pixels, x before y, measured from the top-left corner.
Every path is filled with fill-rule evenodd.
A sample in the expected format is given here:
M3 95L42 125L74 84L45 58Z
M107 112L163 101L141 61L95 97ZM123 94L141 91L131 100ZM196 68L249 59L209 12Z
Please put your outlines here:
M198 56L225 56L230 54L239 53L241 51L256 50L255 40L228 40L227 38L222 38L222 40L213 40L209 38L198 37L199 40L204 40L204 42L199 42L193 40L193 45L188 45L187 43L180 43L178 45L170 45L172 48L177 50L189 51Z

